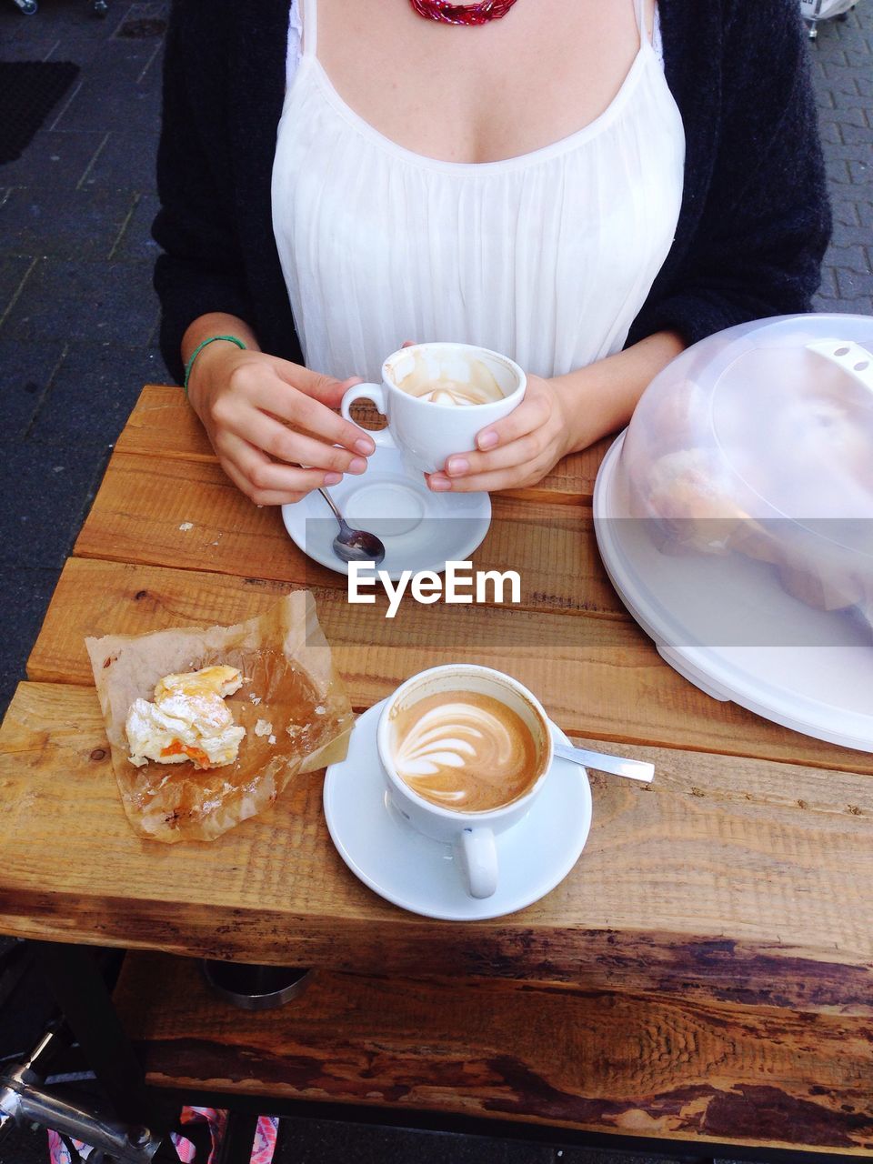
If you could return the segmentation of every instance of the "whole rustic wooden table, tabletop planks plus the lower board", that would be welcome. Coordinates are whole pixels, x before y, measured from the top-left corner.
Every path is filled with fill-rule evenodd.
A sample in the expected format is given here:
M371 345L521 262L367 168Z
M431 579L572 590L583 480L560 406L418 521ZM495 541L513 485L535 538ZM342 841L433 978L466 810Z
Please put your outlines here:
M388 620L230 485L177 389L143 391L2 728L0 931L143 951L115 1001L149 1083L873 1152L873 755L717 703L660 660L595 548L602 453L494 498L474 560L517 569L520 606L405 602ZM233 623L304 585L356 709L426 666L485 662L581 744L654 760L654 785L592 774L570 875L470 924L352 875L320 773L214 844L140 840L83 639ZM194 956L319 972L247 1015Z

